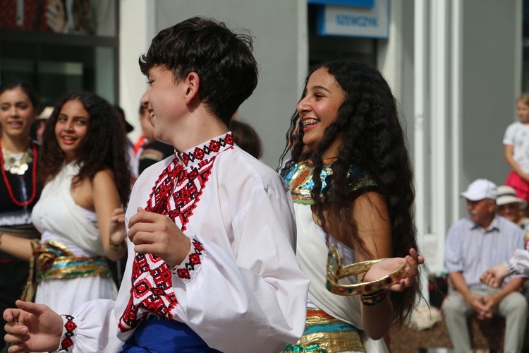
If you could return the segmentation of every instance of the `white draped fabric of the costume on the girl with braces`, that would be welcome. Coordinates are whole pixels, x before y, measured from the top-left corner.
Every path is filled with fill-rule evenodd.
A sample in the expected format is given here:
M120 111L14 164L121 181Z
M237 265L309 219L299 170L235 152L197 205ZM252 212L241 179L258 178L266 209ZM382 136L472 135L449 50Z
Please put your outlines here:
M350 323L362 331L360 339L365 352L388 352L384 340L372 340L363 332L362 316L360 315L360 299L356 296L336 295L326 287L327 255L329 249L325 244L325 235L320 227L314 222L310 205L294 203L296 212L298 249L297 257L305 275L310 279L308 299L309 307L316 306L330 316L341 321ZM346 251L345 247L337 244L340 253L344 256L344 263L354 262L352 251ZM348 258L347 258L348 257ZM353 278L344 278L342 284L353 283Z

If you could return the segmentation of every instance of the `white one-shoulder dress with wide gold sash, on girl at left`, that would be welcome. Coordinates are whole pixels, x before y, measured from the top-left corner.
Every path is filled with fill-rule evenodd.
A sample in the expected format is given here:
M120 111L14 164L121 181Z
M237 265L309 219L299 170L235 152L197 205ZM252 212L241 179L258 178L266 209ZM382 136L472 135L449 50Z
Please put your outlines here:
M46 304L57 313L71 313L86 301L117 295L97 216L71 196L72 179L79 170L76 161L65 164L44 186L32 212L33 224L42 232L34 249L35 303Z

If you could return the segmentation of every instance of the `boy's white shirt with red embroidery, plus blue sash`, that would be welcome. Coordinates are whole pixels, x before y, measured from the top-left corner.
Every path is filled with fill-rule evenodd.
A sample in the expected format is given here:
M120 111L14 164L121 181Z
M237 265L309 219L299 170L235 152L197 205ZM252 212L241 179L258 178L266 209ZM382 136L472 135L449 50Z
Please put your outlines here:
M291 198L281 177L234 145L231 133L146 169L126 224L139 206L167 215L190 237L188 257L169 268L129 242L117 300L63 316L62 349L279 352L298 340L308 280L293 251Z

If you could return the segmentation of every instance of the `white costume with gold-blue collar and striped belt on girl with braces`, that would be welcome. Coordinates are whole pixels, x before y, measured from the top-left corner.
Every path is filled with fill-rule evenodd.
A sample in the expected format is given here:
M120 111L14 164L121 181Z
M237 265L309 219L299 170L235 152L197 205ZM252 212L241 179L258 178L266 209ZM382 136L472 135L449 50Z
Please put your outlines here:
M333 162L334 159L324 160L322 190L327 186L326 178L332 174ZM316 225L310 208L314 204L310 195L314 187L313 172L314 165L306 160L291 164L283 173L286 184L291 189L296 214L296 257L301 269L310 279L305 333L296 345L288 345L284 352L388 352L383 340L372 340L363 333L358 296L332 294L326 287L329 248L326 234ZM363 172L351 167L349 173L358 175L359 181L344 192L361 193L376 188L375 181ZM332 237L329 237L329 242L339 249L345 262L355 262L350 248ZM346 278L341 282L355 283L355 278Z

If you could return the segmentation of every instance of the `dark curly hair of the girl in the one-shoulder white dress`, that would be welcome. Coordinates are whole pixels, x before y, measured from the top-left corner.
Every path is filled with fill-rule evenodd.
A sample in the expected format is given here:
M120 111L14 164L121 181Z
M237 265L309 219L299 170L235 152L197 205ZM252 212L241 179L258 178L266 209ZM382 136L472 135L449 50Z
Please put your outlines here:
M90 116L87 134L78 151L77 160L81 168L73 182L78 183L85 178L92 181L97 172L108 168L114 173L121 203L127 205L130 196L130 170L125 131L111 104L93 93L69 93L54 107L42 136L39 181L43 185L55 177L63 167L65 155L57 143L55 125L63 105L71 100L77 100L83 104Z

